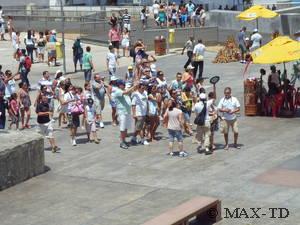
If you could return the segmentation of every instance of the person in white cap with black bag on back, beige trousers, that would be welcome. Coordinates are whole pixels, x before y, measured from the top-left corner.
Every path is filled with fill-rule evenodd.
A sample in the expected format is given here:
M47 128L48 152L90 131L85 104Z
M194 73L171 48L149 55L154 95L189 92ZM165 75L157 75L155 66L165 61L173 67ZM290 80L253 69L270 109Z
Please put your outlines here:
M197 124L196 139L201 143L200 150L202 147L205 148L205 154L210 154L210 120L209 120L209 108L211 103L207 101L206 94L201 93L199 101L195 104L196 117L202 113L205 117L204 124Z

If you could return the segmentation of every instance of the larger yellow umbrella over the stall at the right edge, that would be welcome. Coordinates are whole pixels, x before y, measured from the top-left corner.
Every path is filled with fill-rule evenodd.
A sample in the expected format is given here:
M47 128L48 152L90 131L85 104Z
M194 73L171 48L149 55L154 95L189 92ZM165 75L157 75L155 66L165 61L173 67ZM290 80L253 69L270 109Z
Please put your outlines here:
M279 36L251 53L253 63L276 64L300 59L300 42Z

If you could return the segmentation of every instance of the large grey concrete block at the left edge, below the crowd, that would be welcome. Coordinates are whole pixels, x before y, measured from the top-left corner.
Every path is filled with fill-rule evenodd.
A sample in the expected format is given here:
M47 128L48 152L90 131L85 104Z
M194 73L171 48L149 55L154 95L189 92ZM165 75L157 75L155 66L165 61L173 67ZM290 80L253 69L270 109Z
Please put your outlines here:
M44 139L35 132L0 131L0 191L45 171Z

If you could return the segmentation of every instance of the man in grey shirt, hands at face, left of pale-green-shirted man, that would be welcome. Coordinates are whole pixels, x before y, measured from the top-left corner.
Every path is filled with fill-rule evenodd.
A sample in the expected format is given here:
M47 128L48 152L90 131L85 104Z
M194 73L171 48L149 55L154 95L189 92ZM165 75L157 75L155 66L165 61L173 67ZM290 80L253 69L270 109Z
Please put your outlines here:
M105 104L105 86L100 74L94 76L92 94L97 115L96 124L101 128L104 128L104 123L102 122L102 110L104 109Z

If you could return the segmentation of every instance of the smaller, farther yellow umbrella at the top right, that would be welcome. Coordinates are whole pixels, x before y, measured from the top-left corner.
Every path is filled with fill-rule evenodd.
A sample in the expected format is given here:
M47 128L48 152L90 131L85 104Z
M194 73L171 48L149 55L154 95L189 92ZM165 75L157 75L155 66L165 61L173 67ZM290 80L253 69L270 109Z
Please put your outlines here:
M266 9L261 5L255 5L241 12L236 17L240 20L255 20L257 18L273 18L275 16L278 16L278 13Z

